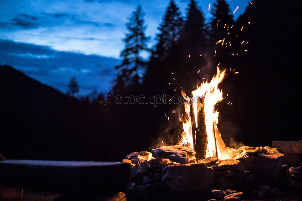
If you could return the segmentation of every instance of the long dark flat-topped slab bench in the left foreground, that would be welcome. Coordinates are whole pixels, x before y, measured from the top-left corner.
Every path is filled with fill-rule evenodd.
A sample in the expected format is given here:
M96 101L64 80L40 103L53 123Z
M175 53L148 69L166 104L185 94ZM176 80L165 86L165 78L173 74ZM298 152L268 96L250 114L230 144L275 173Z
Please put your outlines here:
M130 164L85 161L0 161L0 181L20 187L56 193L107 194L127 188Z

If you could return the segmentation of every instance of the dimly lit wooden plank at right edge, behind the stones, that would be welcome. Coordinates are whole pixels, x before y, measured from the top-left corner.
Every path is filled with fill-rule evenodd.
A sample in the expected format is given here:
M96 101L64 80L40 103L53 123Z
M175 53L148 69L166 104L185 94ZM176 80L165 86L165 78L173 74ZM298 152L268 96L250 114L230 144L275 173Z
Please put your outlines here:
M273 148L279 148L283 153L302 154L302 142L300 141L272 141Z

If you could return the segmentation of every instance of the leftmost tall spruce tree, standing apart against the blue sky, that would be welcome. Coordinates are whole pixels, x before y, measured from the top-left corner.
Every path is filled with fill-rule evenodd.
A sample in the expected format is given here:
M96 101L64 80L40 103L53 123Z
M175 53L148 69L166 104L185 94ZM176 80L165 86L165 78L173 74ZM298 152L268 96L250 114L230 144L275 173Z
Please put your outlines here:
M130 33L126 33L124 39L125 48L120 53L123 58L122 64L115 68L119 70L116 84L113 88L114 93L127 90L131 86L138 86L141 80L141 72L147 65L147 62L140 56L142 51L150 51L146 42L149 37L145 36L146 26L144 26L143 11L140 5L133 11L126 23Z

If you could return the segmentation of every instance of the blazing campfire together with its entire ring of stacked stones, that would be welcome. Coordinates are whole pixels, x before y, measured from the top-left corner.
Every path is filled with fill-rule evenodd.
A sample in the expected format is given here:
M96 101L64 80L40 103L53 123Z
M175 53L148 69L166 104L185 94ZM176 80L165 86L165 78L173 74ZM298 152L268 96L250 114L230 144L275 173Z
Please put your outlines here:
M270 186L278 182L282 153L269 146L237 150L222 140L216 106L224 99L219 84L225 72L217 66L212 80L198 85L190 96L182 90L185 114L179 117L181 123L172 145L126 156L123 162L131 165L128 195L153 195L159 189L165 195L212 193L214 198L225 200L282 195Z

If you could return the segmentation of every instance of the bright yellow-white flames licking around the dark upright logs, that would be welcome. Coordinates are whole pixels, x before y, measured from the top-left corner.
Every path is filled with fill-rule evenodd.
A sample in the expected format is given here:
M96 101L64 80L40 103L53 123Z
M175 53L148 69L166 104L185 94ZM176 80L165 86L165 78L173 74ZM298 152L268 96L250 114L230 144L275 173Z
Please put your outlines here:
M206 157L217 155L219 159L230 159L226 146L221 138L221 134L217 128L219 112L215 110L215 105L223 99L222 90L218 88L225 76L225 70L220 70L217 66L217 74L213 76L210 82L205 81L197 86L197 89L192 91L192 98L186 96L182 90L182 96L185 98L185 120L183 121L183 128L185 135L182 144L191 144L193 147L192 135L192 120L190 114L190 104L193 108L195 127L198 128L197 115L202 109L204 110L205 124L207 131L207 152ZM203 98L203 104L198 104L198 98ZM216 153L217 149L217 153Z

